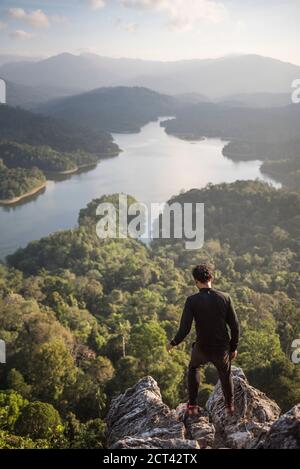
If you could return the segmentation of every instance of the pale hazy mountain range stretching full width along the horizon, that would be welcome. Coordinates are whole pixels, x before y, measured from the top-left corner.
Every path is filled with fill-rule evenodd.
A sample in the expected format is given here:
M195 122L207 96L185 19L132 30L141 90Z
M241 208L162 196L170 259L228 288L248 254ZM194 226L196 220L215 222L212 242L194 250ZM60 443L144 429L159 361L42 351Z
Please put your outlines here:
M36 63L9 63L0 76L27 86L91 90L142 86L167 94L199 93L209 98L284 93L300 77L300 67L258 55L157 62L112 59L94 54L60 54Z

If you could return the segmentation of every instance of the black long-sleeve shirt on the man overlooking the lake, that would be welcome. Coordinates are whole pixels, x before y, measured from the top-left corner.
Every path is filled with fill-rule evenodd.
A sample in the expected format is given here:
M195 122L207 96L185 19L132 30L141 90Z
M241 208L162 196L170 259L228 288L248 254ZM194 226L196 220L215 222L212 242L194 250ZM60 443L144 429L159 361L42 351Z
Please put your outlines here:
M239 342L239 323L230 296L214 288L201 288L185 302L179 330L171 341L178 345L195 320L197 342L202 350L235 351ZM228 333L230 329L230 337Z

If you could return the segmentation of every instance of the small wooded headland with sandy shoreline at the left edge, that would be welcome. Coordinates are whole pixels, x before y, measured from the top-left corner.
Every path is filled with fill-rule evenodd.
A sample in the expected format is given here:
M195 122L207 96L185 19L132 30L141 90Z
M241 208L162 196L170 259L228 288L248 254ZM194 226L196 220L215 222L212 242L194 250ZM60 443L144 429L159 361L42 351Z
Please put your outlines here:
M30 193L46 183L38 168L7 168L0 159L0 200L11 200Z

